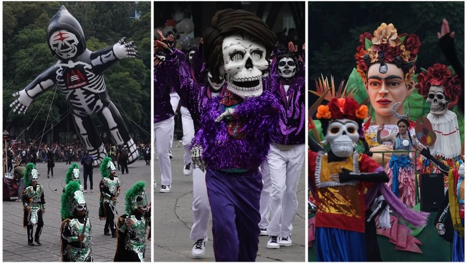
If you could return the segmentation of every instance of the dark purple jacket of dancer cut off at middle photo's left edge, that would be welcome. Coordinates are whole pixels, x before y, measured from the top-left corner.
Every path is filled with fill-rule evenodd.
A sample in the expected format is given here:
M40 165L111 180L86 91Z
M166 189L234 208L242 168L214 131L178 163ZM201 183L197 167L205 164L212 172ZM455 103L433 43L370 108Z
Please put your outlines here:
M164 67L165 63L154 68L154 122L175 115L170 105L170 83Z

